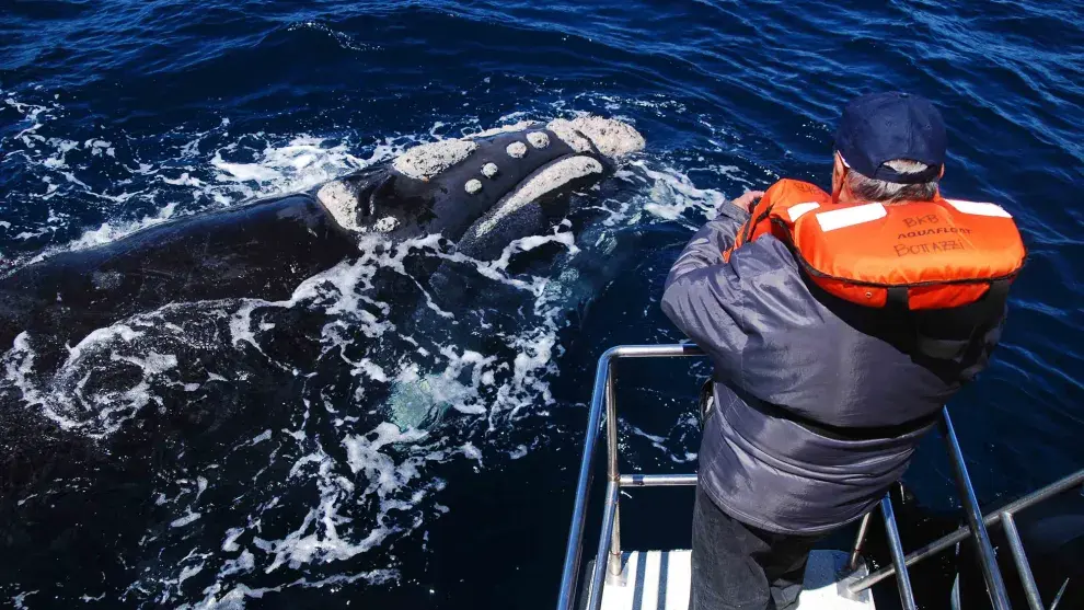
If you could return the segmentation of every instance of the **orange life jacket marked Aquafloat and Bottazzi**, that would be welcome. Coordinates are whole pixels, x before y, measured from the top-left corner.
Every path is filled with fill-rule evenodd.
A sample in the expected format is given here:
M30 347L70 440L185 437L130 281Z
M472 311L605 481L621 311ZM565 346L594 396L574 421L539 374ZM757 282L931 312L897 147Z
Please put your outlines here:
M939 194L932 202L833 204L828 193L796 180L768 189L724 260L769 233L791 248L818 286L868 307L972 303L994 283L1015 278L1027 256L1012 216L994 204Z

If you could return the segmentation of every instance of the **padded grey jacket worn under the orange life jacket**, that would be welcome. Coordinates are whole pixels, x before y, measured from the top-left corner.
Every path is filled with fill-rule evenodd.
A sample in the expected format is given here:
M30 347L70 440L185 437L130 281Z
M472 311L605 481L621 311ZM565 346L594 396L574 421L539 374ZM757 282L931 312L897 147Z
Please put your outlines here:
M1005 295L931 312L855 306L807 283L771 235L724 263L749 215L719 211L685 246L662 297L715 365L700 484L749 525L831 530L880 499L941 406L985 367Z

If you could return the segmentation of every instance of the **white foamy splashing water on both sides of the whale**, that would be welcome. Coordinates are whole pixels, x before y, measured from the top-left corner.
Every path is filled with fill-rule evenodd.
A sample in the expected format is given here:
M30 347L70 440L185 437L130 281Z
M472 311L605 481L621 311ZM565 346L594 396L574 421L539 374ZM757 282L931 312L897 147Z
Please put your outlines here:
M62 106L26 112L31 120ZM33 260L178 214L310 188L451 131L438 124L356 156L349 139L231 136L229 127L222 120L193 135L169 165L140 163L119 194L76 176L81 165L71 153L85 147L31 138L24 154L33 171L49 180L70 174L66 196L157 203L169 192L173 199L141 219L107 219ZM116 158L105 142L91 150ZM583 197L600 220L578 231L566 221L552 234L508 244L493 261L458 254L438 235L403 243L367 237L356 260L310 277L287 300L172 303L91 333L51 373L37 370L21 335L3 355L0 395L85 441L93 456L69 477L31 485L27 508L49 502L61 514L76 510L58 494L90 469L102 472L95 485L153 481L142 499L152 508L120 532L139 539L118 557L124 566L153 563L117 568L130 575L119 591L125 602L212 608L289 588L397 582L395 542L446 510L440 495L453 483L436 474L441 464L485 468L492 457L527 453L527 444L503 433L544 418L554 403L550 379L568 312L599 288L579 265L613 257L623 233L645 218L707 214L722 202L679 172L651 168L638 161L616 187ZM60 191L41 197L59 210ZM177 192L193 204L178 203ZM38 230L70 233L64 218L50 212ZM452 265L481 296L469 311L412 275L427 257ZM381 288L389 276L406 283L389 292Z

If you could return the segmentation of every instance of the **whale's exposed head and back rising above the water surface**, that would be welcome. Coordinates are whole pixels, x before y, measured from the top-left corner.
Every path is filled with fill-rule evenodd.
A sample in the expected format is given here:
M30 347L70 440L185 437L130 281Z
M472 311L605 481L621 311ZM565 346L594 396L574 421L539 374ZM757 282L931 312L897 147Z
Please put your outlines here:
M302 193L150 227L61 252L0 279L0 352L22 336L58 354L96 329L169 303L286 298L359 248L439 235L487 258L556 227L569 197L644 148L621 120L524 122L423 143ZM420 269L437 275L439 261Z

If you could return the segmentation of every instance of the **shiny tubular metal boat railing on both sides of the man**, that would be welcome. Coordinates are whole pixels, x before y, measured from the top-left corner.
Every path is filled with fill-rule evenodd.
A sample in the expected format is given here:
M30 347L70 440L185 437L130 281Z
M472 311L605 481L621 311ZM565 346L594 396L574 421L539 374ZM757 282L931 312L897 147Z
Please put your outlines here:
M658 358L679 356L703 356L703 352L694 345L621 345L611 347L599 358L598 368L595 375L595 388L591 394L591 406L587 416L587 435L584 440L584 456L580 460L579 479L576 485L576 504L573 508L572 527L568 532L568 543L565 549L565 563L561 577L561 592L557 598L558 610L573 610L576 608L576 597L579 590L580 559L584 546L584 525L587 519L587 503L592 483L595 465L596 446L598 445L599 430L601 428L602 415L606 413L607 422L607 490L606 504L602 514L602 529L599 533L598 551L595 555L595 565L591 569L590 578L587 583L587 610L598 610L602 603L603 579L609 583L619 583L622 574L621 563L621 518L620 518L620 496L621 487L659 487L695 485L695 474L621 474L618 467L618 417L616 401L614 399L613 366L612 362L620 358ZM933 556L967 538L973 538L978 552L982 575L987 584L990 599L995 610L1008 610L1008 595L1005 590L1004 578L997 567L997 560L993 545L990 541L988 527L1001 523L1005 528L1008 538L1010 550L1020 582L1024 584L1025 594L1031 610L1041 610L1042 603L1039 599L1035 578L1028 567L1027 556L1024 554L1023 543L1016 530L1014 514L1042 502L1057 494L1084 484L1084 470L1048 485L1037 492L1028 494L1001 509L983 517L979 511L979 503L968 476L967 467L964 463L964 454L960 451L956 431L953 428L952 417L948 410L942 411L941 422L942 434L948 449L949 461L953 463L953 473L957 487L962 499L967 526L941 538L922 549L904 555L900 541L899 529L892 511L891 499L886 497L880 502L879 507L885 521L885 531L888 536L889 551L892 555L892 565L881 568L869 575L852 573L841 577L842 583L846 583L845 589L851 595L858 595L875 584L889 578L897 577L900 592L900 600L908 610L916 608L914 595L911 589L911 580L908 577L907 568L910 565ZM857 567L862 545L865 542L866 533L873 513L868 513L862 520L858 528L858 537L855 540L854 549L851 553L851 569ZM1057 603L1057 601L1054 602Z

